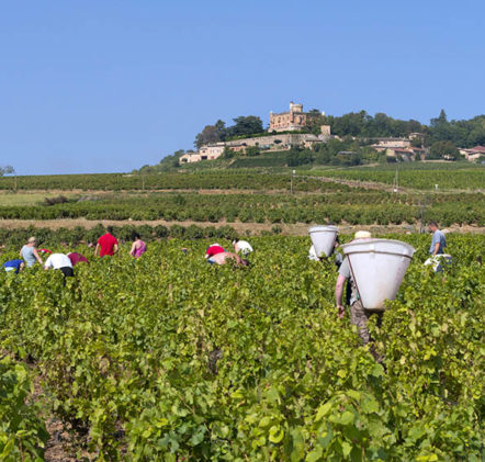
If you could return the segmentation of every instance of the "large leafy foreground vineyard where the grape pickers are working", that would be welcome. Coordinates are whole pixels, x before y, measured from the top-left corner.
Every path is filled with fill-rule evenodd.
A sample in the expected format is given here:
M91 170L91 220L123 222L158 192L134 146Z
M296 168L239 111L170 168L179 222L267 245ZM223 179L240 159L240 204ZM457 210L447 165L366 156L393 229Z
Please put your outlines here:
M429 236L397 238L417 252L371 323L383 364L338 319L335 266L307 259L308 238L253 238L249 268L173 239L80 263L66 286L41 268L0 273L1 458L43 457L29 360L48 412L102 460L480 461L485 238L449 235L438 274Z

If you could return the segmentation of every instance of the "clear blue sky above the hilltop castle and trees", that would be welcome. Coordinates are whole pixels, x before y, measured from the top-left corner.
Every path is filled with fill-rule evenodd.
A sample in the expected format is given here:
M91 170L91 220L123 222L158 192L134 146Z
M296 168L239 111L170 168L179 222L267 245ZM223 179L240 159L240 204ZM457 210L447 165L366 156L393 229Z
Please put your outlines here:
M131 171L286 110L485 113L483 0L0 2L0 166Z

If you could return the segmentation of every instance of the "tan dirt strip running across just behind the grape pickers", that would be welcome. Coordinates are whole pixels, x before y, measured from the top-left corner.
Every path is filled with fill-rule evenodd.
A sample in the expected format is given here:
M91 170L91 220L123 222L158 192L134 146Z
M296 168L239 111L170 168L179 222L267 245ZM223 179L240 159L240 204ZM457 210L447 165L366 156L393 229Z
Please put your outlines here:
M296 224L283 224L283 223L228 223L226 221L221 221L218 223L210 223L210 222L167 222L163 219L154 219L154 221L131 221L131 219L122 219L122 221L113 221L113 219L44 219L44 221L35 221L35 219L0 219L0 229L19 229L19 228L27 228L30 226L34 226L37 228L49 228L49 229L59 229L67 228L72 229L76 226L81 226L87 229L91 229L94 226L102 224L104 226L113 225L113 226L140 226L140 225L163 225L167 227L179 225L179 226L200 226L200 227L222 227L222 226L230 226L236 229L239 234L246 234L246 232L250 232L252 235L259 235L262 232L270 232L274 226L281 228L281 234L286 236L306 236L308 234L308 228L314 226L315 224L305 224L305 223L296 223ZM419 224L401 224L401 225L348 225L348 224L339 224L338 225L340 233L342 234L351 234L357 229L366 229L375 234L385 234L385 233L417 233L419 232ZM460 226L452 225L447 227L449 232L452 233L474 233L474 234L485 234L485 227L478 226Z

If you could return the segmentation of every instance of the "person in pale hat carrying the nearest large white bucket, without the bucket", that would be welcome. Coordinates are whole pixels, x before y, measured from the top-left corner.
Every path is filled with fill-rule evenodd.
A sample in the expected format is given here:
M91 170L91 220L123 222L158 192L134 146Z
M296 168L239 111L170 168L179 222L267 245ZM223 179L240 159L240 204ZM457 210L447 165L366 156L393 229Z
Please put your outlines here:
M372 237L371 233L360 230L356 233L354 239L356 240L369 239L371 237ZM362 306L362 302L359 300L359 293L357 291L356 282L353 281L352 274L350 272L350 264L348 257L343 259L343 262L338 270L337 283L335 285L335 300L337 303L339 318L342 318L345 314L342 305L342 295L343 295L343 284L347 280L350 281L350 286L351 286L350 323L357 326L357 330L359 333L359 337L362 340L362 343L366 345L371 341L371 336L368 329L368 319L373 313L375 313L375 311L365 309ZM382 317L382 313L379 313L379 316Z

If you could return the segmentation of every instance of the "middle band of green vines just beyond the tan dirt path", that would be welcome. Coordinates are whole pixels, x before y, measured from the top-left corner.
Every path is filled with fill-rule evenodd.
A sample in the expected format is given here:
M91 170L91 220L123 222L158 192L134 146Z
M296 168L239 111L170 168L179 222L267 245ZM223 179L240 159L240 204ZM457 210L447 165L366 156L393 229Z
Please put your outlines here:
M300 195L156 192L81 195L55 205L0 206L0 217L285 224L329 221L361 225L417 223L425 218L436 219L443 226L485 224L485 199L481 193L394 194L375 190L349 191L345 185L324 184L329 187L325 193Z

